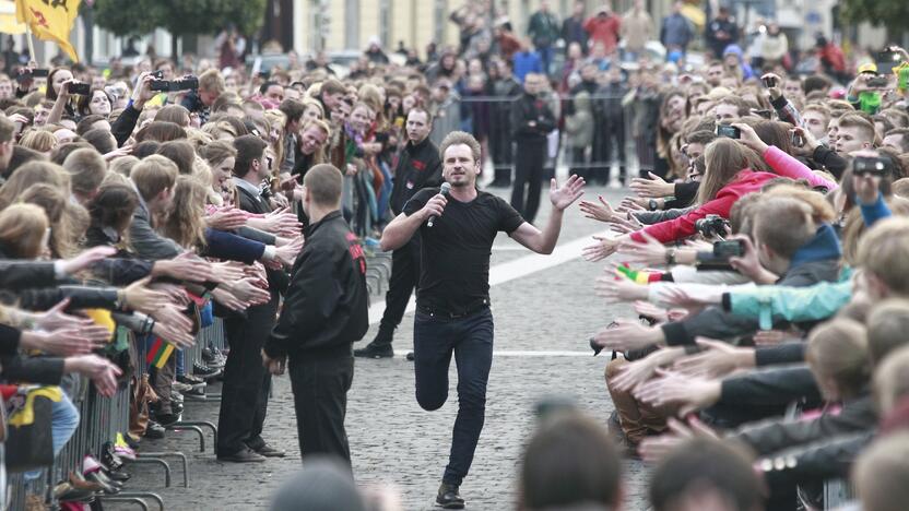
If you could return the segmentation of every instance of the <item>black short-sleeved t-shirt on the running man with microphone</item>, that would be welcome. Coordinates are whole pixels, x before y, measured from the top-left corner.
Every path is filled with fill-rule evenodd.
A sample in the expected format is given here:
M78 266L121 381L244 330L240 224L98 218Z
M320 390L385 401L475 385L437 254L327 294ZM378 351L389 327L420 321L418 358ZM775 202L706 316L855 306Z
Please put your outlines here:
M426 205L438 188L424 188L404 204L410 216ZM448 197L445 213L422 237L416 302L440 312L463 313L489 299L489 255L499 231L513 233L524 219L501 198L479 191L471 202Z

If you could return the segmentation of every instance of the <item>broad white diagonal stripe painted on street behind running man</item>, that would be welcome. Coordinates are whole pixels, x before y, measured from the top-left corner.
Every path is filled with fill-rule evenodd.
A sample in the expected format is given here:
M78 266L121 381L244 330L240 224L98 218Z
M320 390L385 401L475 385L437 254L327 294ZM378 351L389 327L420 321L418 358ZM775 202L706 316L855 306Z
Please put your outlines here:
M558 266L559 264L564 264L572 259L579 258L581 255L581 250L591 245L591 242L592 240L590 236L583 236L568 241L567 243L557 245L555 250L553 250L553 253L548 255L531 252L529 255L515 259L513 261L496 264L489 269L489 286L504 284L508 281L530 275L531 273L542 272L543 270ZM527 250L523 247L521 249ZM388 285L387 283L383 283L382 286L383 288L387 288ZM495 304L493 304L493 308L495 309ZM416 310L416 298L415 296L411 296L411 300L408 302L408 308L404 310L404 313L411 313L414 310ZM376 324L381 321L382 312L385 312L385 296L379 297L369 307L369 324Z

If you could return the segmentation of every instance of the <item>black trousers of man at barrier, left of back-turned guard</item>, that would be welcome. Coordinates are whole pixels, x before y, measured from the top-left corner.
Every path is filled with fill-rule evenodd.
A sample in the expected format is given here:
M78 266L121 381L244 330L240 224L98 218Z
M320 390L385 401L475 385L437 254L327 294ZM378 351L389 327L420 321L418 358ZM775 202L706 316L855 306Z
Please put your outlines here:
M233 316L224 320L224 332L231 345L224 366L221 390L221 413L217 416L217 453L231 455L249 447L264 445L262 425L271 390L271 375L262 367L262 346L274 326L278 312L276 293L268 304L250 307L246 318Z

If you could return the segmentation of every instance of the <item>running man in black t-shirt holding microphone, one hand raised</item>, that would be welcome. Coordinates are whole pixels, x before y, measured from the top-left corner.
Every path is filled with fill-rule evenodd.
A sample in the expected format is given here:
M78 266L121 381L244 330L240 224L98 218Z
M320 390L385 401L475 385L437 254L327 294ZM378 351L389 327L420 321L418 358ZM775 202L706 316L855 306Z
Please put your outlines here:
M459 486L468 474L486 411L486 382L493 363L493 314L489 311L489 255L493 240L505 231L538 253L552 253L562 215L583 194L583 179L571 176L550 187L553 211L541 231L503 199L476 189L480 143L454 131L439 146L448 199L438 188L421 190L382 234L382 250L393 250L417 231L423 239L414 320L416 401L438 409L448 399L451 354L458 366L458 418L451 454L436 502L461 509ZM435 216L434 225L428 219Z

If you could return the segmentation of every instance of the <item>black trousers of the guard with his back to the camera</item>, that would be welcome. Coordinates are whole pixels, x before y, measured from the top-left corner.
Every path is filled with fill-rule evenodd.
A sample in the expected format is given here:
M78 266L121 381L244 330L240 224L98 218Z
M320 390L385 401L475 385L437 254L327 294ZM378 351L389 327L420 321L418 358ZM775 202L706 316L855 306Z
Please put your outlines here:
M351 448L344 429L347 391L354 381L352 355L307 359L292 357L288 364L300 456L330 454L351 464Z

